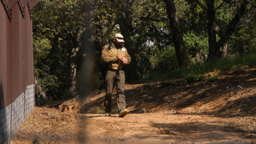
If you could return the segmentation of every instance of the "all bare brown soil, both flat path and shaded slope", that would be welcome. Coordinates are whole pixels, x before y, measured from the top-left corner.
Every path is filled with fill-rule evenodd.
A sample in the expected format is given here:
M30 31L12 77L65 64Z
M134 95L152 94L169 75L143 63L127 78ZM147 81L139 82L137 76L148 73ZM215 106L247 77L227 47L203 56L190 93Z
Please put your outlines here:
M124 118L95 114L103 90L35 107L10 143L256 143L256 68L206 80L126 84Z

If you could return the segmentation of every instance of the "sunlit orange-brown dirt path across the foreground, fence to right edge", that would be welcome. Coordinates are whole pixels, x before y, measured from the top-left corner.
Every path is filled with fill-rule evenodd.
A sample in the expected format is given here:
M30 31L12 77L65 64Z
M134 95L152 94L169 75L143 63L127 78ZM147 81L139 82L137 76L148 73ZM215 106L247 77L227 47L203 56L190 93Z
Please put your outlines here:
M256 143L256 117L57 113L36 107L11 143Z

